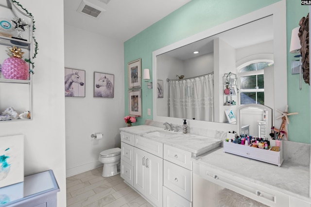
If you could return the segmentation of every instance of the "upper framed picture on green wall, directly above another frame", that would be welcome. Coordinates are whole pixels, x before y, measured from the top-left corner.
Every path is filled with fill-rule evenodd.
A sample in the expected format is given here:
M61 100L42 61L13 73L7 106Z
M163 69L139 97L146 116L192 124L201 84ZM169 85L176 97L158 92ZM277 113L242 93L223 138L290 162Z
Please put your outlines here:
M128 88L141 87L141 59L127 64Z

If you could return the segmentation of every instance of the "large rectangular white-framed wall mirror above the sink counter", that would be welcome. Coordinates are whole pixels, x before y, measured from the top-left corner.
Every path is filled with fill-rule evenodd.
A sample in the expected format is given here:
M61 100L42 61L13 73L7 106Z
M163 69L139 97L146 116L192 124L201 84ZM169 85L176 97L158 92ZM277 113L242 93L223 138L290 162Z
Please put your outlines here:
M154 120L237 129L236 122L225 124L225 111L237 115L254 101L285 108L287 83L279 81L287 80L285 11L282 0L154 51Z

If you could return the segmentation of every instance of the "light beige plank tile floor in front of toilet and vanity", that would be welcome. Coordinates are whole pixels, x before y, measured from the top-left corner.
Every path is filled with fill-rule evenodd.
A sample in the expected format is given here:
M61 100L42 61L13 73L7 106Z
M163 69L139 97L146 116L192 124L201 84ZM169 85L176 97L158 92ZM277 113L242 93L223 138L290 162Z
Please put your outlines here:
M103 167L66 179L67 207L152 207L119 175L102 177Z

